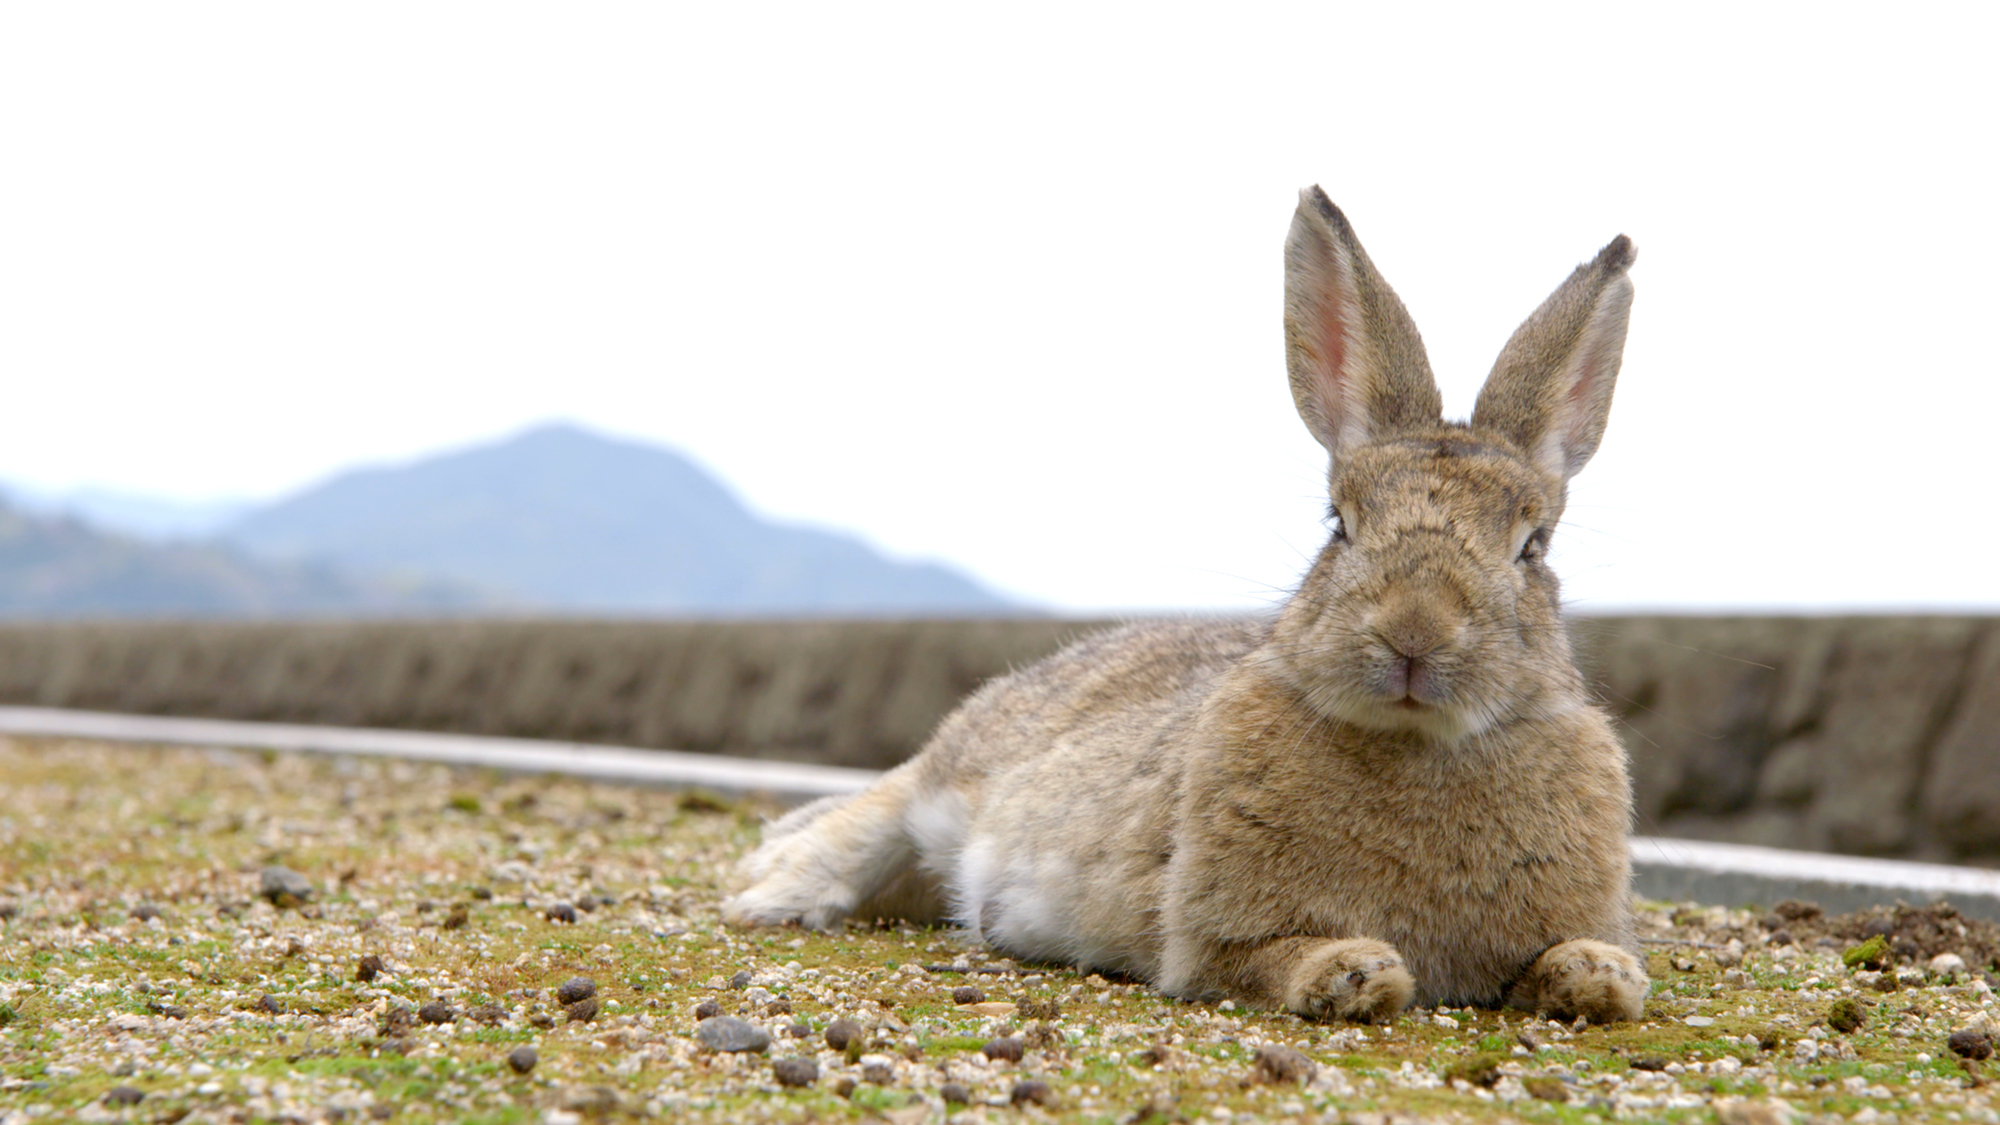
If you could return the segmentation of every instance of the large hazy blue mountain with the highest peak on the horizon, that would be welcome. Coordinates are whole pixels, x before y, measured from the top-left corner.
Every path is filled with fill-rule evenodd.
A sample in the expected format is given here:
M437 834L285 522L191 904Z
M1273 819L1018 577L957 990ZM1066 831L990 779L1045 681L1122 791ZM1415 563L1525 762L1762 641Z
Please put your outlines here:
M220 534L268 558L450 579L564 613L1014 611L944 567L766 522L668 448L568 424L344 472Z

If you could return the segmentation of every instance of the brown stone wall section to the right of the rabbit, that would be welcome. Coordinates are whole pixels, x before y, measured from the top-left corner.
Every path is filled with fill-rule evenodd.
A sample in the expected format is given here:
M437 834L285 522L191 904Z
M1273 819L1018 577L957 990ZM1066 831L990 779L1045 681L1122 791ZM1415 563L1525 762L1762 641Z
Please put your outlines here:
M1640 831L2000 863L2000 621L1580 619Z

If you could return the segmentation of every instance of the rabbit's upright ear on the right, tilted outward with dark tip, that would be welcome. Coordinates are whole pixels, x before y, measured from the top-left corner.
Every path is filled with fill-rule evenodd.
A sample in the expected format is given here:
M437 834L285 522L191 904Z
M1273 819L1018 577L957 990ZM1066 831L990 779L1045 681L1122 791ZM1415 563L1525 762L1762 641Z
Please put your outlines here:
M1620 234L1536 308L1486 376L1472 424L1514 440L1538 468L1568 480L1604 438L1624 358L1638 258Z

